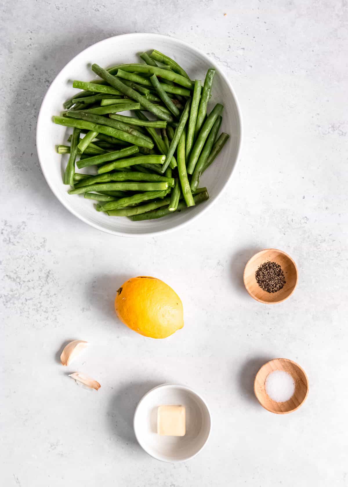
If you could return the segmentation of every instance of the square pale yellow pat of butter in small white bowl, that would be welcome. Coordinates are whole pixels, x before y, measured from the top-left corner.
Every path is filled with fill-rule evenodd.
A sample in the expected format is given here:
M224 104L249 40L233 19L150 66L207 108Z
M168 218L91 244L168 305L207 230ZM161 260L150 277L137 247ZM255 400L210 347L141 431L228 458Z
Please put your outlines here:
M158 406L157 434L167 436L185 436L185 406Z

